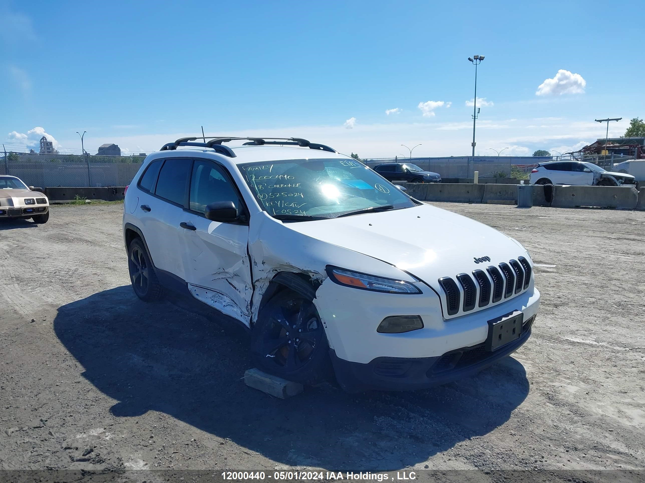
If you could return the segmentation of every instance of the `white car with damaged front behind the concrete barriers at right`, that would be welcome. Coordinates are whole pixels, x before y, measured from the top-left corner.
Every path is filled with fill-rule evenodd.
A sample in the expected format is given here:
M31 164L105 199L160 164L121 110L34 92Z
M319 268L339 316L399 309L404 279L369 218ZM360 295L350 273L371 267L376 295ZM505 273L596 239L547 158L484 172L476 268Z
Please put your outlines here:
M581 186L635 185L636 178L626 173L606 171L593 163L555 161L540 163L530 175L531 184L566 184Z

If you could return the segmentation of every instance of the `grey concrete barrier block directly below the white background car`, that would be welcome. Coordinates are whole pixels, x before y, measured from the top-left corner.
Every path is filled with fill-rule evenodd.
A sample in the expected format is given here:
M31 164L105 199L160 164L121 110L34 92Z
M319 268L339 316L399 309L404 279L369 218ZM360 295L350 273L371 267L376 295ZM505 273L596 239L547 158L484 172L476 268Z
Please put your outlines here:
M581 206L635 209L639 193L624 186L553 186L551 206L576 208Z

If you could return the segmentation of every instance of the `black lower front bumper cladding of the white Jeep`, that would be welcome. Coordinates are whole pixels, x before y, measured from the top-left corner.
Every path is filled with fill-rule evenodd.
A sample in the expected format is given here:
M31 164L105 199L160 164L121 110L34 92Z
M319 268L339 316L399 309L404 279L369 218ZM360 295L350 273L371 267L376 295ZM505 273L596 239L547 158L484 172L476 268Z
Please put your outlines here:
M370 363L345 361L330 350L339 384L350 391L405 391L430 388L476 374L515 352L531 336L535 316L522 326L522 336L491 352L485 343L446 352L437 357L377 357Z

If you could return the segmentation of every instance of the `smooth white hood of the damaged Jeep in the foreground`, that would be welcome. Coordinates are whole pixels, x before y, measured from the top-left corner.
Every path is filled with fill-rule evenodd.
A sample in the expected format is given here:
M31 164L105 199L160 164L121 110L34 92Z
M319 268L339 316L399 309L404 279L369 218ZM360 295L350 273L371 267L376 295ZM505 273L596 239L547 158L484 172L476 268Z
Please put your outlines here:
M285 223L292 230L410 272L439 291L438 279L528 257L519 243L466 216L431 205L314 222ZM475 263L475 258L490 262ZM348 270L354 267L342 267Z

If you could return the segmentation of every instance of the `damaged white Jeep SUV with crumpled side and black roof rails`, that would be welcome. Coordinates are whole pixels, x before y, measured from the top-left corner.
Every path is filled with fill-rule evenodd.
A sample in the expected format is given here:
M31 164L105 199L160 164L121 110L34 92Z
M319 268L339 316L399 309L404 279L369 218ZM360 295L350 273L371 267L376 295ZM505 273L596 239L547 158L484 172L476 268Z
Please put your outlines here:
M301 138L166 144L126 190L123 234L139 298L184 294L248 328L261 370L352 392L474 374L539 306L516 240Z

